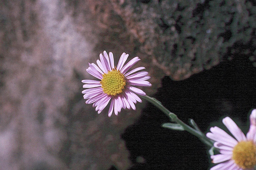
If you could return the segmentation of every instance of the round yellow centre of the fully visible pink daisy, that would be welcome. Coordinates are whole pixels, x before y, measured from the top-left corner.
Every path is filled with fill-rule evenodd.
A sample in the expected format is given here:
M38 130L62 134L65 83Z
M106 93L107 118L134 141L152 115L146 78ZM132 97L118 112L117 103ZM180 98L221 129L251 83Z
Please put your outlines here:
M100 84L107 95L116 96L124 91L126 80L124 75L116 69L104 73Z

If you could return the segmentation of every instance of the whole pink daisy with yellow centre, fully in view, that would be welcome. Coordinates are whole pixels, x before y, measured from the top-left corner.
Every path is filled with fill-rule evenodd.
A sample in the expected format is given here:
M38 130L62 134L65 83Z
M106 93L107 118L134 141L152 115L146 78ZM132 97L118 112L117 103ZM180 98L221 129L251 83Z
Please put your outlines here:
M138 67L127 72L134 64L140 61L139 57L134 57L127 64L124 64L129 54L123 53L118 61L117 66L114 66L114 57L112 52L109 56L106 51L99 55L100 60L96 64L89 63L89 68L86 71L99 79L97 80L82 80L83 88L88 88L82 91L83 98L88 99L85 103L93 103L95 110L100 113L109 103L108 116L110 117L113 110L115 115L121 111L121 108L132 108L135 110L136 102L142 102L139 95L146 95L141 89L135 86L151 86L146 81L150 79L148 72L137 72L145 69L145 67ZM137 72L137 73L135 73ZM136 94L135 94L136 93Z

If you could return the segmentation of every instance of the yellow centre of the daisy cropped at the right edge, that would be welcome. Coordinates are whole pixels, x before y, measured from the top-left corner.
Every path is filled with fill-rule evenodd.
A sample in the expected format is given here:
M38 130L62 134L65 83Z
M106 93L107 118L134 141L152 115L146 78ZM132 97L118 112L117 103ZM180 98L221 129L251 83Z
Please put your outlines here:
M252 141L238 142L233 148L232 159L243 169L256 165L256 146Z

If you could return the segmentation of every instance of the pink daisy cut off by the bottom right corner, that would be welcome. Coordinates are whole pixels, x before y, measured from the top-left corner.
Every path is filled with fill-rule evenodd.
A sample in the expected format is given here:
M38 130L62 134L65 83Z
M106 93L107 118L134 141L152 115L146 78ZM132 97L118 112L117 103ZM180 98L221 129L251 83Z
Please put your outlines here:
M211 127L206 136L213 141L220 154L211 155L213 163L210 170L254 170L256 165L256 109L250 115L250 129L245 136L235 122L226 117L223 124L235 137L231 137L218 127Z

